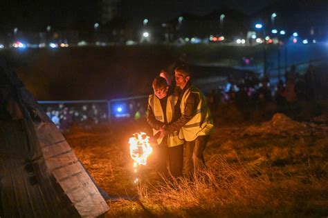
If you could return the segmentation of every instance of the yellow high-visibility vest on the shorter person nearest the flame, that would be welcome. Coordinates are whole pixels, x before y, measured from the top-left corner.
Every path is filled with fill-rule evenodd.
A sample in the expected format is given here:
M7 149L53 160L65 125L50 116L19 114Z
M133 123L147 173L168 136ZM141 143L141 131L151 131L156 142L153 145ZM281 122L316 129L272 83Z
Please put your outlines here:
M167 103L166 103L166 120L167 123L170 123L174 117L174 106L178 102L178 97L174 95L170 95L167 97ZM165 122L164 121L164 114L163 109L161 106L161 102L159 101L158 97L156 95L149 95L148 99L149 105L152 107L152 110L154 112L154 116L158 121ZM158 130L153 129L154 135ZM162 142L163 138L157 139L157 143L160 144ZM167 146L173 147L173 146L179 146L183 144L183 140L179 139L179 132L175 131L169 135L167 135Z

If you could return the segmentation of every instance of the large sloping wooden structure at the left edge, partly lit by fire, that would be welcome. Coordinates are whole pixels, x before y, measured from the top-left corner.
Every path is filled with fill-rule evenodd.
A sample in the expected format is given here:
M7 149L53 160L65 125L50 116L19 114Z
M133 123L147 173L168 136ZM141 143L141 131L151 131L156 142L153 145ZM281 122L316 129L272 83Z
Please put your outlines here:
M107 210L60 131L0 59L0 217L97 217Z

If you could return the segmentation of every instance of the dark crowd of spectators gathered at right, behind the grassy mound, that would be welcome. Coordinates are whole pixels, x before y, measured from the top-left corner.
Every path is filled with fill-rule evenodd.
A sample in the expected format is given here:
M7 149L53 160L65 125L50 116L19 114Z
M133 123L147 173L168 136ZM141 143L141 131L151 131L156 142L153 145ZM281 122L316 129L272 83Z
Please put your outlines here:
M279 79L277 86L272 87L266 78L246 77L239 81L228 81L226 86L212 90L206 95L212 111L220 105L233 105L242 113L245 120L257 117L268 118L273 112L282 112L291 117L300 110L300 101L312 101L327 97L325 79L309 64L307 71L301 75L295 66L286 71L284 78ZM327 91L327 90L326 90Z

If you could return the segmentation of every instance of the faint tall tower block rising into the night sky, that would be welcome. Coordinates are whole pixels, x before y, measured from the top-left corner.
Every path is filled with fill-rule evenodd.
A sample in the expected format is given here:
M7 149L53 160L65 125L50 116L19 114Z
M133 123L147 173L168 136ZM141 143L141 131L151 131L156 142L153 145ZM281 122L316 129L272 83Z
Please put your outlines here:
M119 3L120 0L100 0L100 22L102 25L116 17Z

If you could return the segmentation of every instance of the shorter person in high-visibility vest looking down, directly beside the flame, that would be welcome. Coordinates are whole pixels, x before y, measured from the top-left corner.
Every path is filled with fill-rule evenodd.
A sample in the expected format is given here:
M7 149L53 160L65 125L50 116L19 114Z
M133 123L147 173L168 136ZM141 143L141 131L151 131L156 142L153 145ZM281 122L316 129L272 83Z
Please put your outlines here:
M179 119L181 113L178 97L168 92L169 86L163 77L156 77L152 86L154 95L149 95L146 118L156 136L158 130ZM169 174L172 177L182 176L183 140L178 135L178 131L173 131L157 139L158 146L154 147L158 171L165 177ZM167 165L170 171L167 170Z

